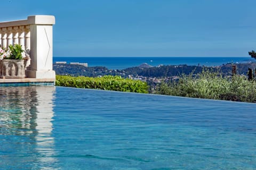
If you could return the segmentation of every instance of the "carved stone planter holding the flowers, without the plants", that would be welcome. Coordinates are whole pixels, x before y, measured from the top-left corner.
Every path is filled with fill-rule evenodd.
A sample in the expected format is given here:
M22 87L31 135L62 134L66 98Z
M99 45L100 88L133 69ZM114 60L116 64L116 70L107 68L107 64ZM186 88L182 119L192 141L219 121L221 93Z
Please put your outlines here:
M0 78L19 79L25 78L26 60L1 60Z

